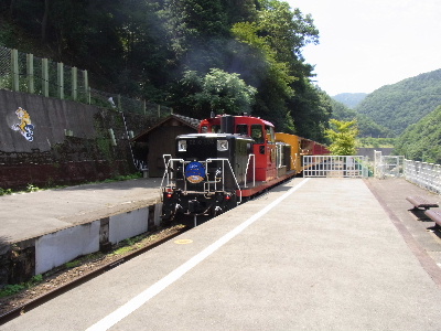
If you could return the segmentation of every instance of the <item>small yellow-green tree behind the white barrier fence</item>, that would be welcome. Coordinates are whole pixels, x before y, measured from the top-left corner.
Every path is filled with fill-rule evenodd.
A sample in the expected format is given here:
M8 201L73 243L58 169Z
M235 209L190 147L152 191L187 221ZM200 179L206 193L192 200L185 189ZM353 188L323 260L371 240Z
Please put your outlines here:
M356 153L356 137L358 128L356 120L341 121L331 119L331 128L325 130L331 140L330 151L334 156L354 156Z

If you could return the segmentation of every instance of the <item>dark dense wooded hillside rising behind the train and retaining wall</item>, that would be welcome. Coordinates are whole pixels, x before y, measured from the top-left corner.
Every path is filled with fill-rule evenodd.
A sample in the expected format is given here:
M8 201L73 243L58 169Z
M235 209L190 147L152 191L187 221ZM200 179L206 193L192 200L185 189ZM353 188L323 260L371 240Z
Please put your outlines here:
M279 0L0 0L1 45L87 70L96 88L323 141L331 106L302 55L318 41Z

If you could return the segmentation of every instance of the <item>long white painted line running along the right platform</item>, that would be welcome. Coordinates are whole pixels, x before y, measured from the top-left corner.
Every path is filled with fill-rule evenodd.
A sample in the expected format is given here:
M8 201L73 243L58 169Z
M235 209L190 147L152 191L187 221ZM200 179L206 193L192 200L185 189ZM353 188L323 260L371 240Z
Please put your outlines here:
M120 320L123 318L128 317L130 313L132 313L135 310L140 308L142 305L144 305L147 301L149 301L151 298L153 298L155 295L160 293L163 289L165 289L169 285L173 284L179 278L181 278L185 273L190 271L193 267L198 265L201 261L203 261L205 258L207 258L209 255L212 255L214 252L216 252L218 248L220 248L223 245L228 243L230 239L233 239L235 236L237 236L239 233L241 233L245 228L247 228L249 225L255 223L257 220L259 220L261 216L263 216L266 213L268 213L270 210L272 210L275 206L277 206L280 202L282 202L284 199L287 199L289 195L294 193L298 189L300 189L305 182L308 182L310 179L304 179L301 181L299 184L291 188L287 193L283 195L279 196L277 200L268 204L265 209L262 209L260 212L254 214L251 217L249 217L247 221L225 234L223 237L214 242L212 245L206 247L204 250L198 253L197 255L193 256L191 259L189 259L186 263L171 271L169 275L166 275L164 278L161 280L157 281L153 284L151 287L136 296L133 299L115 310L114 312L109 313L106 316L104 319L95 323L94 325L89 327L86 329L86 331L105 331L110 329L112 325L118 323Z

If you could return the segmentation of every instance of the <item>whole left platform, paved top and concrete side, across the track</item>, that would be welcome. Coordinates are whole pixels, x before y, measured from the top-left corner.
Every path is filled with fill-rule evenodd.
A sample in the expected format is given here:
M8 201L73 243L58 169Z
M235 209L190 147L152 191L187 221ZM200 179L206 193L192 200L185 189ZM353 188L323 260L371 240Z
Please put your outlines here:
M0 284L25 281L158 225L160 184L136 179L0 196Z

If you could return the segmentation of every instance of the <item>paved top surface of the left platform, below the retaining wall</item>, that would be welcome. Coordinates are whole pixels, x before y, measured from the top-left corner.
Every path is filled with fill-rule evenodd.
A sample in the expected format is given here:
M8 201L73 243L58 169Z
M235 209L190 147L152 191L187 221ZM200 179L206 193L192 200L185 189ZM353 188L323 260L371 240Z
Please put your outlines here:
M0 241L15 243L154 204L161 179L85 184L0 196Z

